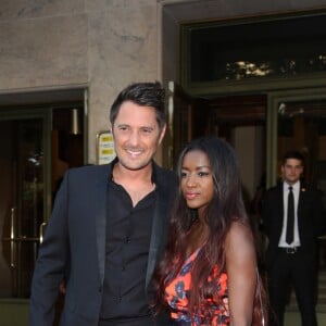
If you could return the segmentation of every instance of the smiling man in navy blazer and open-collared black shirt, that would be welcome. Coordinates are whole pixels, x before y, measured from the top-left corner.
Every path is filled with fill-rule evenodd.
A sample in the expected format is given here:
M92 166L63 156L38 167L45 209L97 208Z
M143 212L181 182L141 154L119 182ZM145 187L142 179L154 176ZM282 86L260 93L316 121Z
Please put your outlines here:
M52 325L65 280L62 326L152 326L152 274L167 238L176 187L153 156L165 128L160 83L126 87L110 121L116 159L70 170L39 249L29 326Z

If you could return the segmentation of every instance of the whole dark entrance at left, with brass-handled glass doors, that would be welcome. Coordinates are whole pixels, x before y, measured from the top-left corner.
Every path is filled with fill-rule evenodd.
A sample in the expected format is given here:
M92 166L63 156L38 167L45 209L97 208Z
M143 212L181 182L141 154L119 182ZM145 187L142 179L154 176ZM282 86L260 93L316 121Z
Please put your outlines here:
M84 164L83 106L0 111L1 325L27 325L30 281L60 181Z

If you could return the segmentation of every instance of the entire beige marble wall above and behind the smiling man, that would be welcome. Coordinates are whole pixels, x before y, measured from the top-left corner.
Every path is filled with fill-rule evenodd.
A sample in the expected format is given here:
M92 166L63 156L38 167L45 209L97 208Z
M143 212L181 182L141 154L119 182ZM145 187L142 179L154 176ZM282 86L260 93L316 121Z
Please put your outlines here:
M88 89L88 161L127 84L178 80L180 22L298 11L325 0L2 0L0 96ZM163 27L162 27L163 26Z

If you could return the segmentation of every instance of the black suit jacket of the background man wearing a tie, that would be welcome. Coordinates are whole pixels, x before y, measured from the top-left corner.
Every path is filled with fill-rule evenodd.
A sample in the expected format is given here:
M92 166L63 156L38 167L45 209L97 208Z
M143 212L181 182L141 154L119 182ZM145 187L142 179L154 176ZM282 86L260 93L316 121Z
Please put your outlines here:
M264 233L268 238L266 266L273 263L278 250L284 220L283 183L268 189L262 201ZM325 233L326 216L322 193L312 186L301 183L298 203L298 226L301 250L315 255L316 239Z

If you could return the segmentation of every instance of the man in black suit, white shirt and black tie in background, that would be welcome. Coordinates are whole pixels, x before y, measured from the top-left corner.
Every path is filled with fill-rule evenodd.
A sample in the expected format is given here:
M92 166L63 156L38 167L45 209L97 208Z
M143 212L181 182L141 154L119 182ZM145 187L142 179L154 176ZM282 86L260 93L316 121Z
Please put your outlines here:
M300 180L304 160L288 152L281 164L283 183L267 190L262 218L268 238L266 269L271 326L284 325L288 286L293 285L303 326L316 326L316 240L325 230L321 191Z

